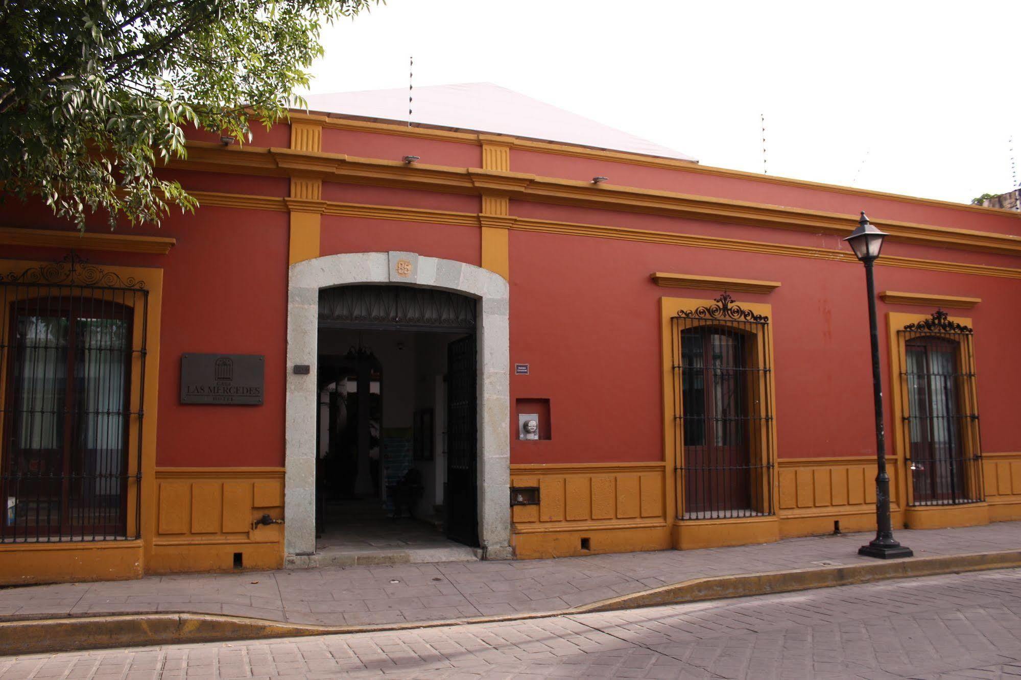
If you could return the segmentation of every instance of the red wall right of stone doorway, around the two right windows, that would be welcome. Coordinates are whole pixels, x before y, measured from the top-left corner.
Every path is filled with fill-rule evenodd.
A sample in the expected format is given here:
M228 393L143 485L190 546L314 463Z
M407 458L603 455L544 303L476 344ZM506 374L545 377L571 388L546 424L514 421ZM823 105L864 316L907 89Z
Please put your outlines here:
M773 306L771 329L778 453L781 457L875 452L871 355L861 265L574 236L510 232L512 400L550 399L552 439L512 443L512 463L662 459L661 297L709 299L718 291L661 288L655 271L776 280L769 295L738 303ZM880 266L879 290L944 292L982 298L976 328L981 435L986 451L1016 450L1011 404L1021 367L1010 338L1021 333L1008 310L1021 282ZM885 312L928 307L880 302L883 380L889 391ZM1005 313L1006 312L1006 313ZM892 422L887 406L887 430Z

